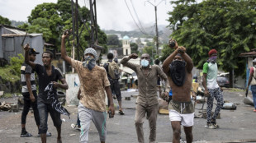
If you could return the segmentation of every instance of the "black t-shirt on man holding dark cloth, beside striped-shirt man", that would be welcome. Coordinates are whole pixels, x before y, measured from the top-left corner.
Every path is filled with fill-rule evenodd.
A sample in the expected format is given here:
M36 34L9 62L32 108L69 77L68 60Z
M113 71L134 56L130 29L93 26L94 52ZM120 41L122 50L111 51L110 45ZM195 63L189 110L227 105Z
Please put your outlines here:
M44 92L45 87L49 85L51 81L57 82L58 80L60 81L64 77L62 76L59 69L54 66L52 66L52 71L50 76L47 75L45 67L40 64L36 64L35 71L39 79L38 102L42 101L45 104L49 104L49 102L47 101L47 92L46 93Z

